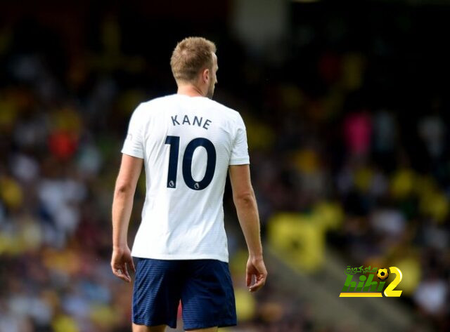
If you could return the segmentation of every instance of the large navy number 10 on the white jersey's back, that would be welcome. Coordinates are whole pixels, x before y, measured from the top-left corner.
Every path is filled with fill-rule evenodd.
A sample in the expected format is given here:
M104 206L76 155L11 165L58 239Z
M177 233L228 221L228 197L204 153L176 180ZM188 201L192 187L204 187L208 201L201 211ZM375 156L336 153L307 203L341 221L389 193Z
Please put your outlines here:
M178 172L178 156L180 150L179 136L167 136L165 144L170 145L169 152L169 172L167 173L167 187L176 188L176 173ZM204 147L207 153L205 176L200 181L195 181L192 177L192 157L195 149ZM216 168L216 149L214 144L207 138L194 138L186 146L183 156L183 178L186 185L193 190L203 190L212 181Z

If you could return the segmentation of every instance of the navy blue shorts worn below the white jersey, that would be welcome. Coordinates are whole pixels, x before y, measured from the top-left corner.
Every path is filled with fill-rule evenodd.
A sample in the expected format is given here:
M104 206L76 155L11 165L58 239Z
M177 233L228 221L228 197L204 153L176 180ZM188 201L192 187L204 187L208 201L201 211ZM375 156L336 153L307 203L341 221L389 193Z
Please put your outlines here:
M136 258L134 324L176 328L180 300L185 330L236 325L233 283L227 263Z

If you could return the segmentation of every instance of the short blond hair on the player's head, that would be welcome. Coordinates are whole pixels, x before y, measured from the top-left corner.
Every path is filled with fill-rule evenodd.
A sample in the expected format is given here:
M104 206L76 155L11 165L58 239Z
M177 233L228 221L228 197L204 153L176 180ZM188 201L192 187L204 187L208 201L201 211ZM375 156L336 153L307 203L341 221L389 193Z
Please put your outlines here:
M200 70L212 69L214 60L212 53L216 45L202 37L188 37L176 44L170 58L170 67L175 80L191 82Z

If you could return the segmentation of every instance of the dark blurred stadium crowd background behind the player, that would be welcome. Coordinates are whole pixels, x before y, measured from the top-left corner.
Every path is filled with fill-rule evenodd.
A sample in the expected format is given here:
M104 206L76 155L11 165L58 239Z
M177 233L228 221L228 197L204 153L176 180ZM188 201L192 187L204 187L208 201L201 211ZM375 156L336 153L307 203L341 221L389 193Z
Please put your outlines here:
M250 295L228 188L226 331L450 331L448 1L0 7L1 332L129 331L109 266L120 147L134 107L176 91L190 35L217 43L215 99L248 126L269 270ZM348 265L399 267L401 297L339 298Z

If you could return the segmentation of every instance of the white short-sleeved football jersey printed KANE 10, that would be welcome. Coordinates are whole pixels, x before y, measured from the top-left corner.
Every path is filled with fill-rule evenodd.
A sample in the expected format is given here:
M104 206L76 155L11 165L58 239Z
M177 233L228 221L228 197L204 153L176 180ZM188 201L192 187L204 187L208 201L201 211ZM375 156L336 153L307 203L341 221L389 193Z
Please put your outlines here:
M146 201L134 257L228 262L223 197L229 165L249 164L240 114L204 97L168 95L131 115L122 153L143 159Z

